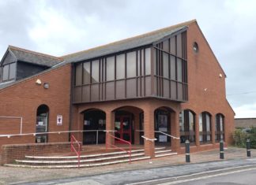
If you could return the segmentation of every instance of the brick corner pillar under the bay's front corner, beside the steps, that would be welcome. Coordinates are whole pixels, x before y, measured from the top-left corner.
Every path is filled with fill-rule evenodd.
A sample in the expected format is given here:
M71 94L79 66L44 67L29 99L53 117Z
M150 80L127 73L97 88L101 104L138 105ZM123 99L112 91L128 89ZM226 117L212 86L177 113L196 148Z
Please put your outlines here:
M148 105L144 109L144 136L148 139L155 139L154 132L154 110ZM145 155L155 157L155 142L144 139Z

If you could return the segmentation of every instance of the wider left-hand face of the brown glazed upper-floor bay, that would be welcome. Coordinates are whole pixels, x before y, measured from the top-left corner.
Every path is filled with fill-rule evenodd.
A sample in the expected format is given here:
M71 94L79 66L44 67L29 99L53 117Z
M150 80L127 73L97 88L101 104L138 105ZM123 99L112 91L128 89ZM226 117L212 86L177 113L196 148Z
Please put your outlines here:
M151 48L74 65L73 102L97 102L151 95Z

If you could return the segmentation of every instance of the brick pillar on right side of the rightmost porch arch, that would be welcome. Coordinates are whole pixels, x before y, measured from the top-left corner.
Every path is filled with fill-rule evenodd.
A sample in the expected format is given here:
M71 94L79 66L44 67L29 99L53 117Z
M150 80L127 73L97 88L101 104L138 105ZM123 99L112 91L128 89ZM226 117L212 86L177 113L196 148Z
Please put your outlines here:
M179 113L171 113L171 135L179 138ZM171 138L171 150L178 152L180 149L180 139Z

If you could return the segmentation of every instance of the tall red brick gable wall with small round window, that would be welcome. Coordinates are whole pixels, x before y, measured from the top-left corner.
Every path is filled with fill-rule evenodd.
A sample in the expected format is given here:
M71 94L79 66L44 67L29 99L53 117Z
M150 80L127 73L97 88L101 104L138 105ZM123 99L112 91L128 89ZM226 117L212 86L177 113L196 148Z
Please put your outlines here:
M194 42L198 43L198 54L194 53ZM217 113L222 113L225 141L232 142L235 115L226 99L224 72L196 23L187 30L187 68L189 101L182 104L182 109L191 109L197 115L207 111L213 121Z

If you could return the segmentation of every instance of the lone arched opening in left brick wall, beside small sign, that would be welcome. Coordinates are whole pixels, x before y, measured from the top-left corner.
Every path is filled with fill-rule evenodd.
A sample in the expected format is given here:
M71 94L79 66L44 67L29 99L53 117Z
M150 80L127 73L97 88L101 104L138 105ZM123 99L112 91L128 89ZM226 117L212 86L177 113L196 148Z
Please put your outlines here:
M40 105L36 110L36 142L47 142L48 140L48 120L49 120L49 107L47 105Z

